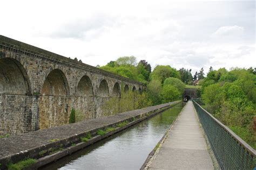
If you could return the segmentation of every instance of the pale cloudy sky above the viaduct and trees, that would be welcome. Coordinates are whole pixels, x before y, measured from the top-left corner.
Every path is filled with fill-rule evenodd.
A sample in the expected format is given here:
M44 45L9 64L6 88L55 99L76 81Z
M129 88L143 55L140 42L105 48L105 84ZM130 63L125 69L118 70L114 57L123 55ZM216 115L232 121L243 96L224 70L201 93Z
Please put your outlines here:
M2 1L0 34L106 65L256 67L255 1Z

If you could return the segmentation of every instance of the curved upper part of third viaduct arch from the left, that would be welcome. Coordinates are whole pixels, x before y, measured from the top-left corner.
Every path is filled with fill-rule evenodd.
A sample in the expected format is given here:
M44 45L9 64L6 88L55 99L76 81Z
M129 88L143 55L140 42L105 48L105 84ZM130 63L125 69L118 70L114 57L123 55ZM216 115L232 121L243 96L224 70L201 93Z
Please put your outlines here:
M92 82L91 82L91 79L87 75L84 75L80 79L78 86L77 86L76 95L77 96L85 96L85 97L93 96Z

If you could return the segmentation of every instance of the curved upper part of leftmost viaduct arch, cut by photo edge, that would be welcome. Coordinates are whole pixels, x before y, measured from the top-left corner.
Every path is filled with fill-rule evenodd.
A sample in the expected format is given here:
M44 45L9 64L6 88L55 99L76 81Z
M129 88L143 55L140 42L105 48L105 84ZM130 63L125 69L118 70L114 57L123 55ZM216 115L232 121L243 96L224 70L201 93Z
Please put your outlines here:
M28 74L19 61L0 59L0 94L31 95Z

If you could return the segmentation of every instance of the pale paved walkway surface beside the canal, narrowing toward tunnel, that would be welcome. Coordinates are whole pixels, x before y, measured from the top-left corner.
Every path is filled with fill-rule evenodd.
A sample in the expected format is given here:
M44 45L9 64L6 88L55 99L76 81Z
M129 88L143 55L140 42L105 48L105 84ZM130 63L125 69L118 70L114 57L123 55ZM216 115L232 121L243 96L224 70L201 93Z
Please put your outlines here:
M189 101L156 155L149 169L214 169L203 133Z

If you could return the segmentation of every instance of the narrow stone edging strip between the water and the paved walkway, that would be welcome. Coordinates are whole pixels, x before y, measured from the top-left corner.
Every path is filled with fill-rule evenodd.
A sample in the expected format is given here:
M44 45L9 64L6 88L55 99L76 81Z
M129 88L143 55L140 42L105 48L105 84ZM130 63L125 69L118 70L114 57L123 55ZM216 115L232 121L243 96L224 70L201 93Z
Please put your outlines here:
M180 110L179 115L176 117L176 119L172 122L172 124L170 125L170 128L166 130L166 132L164 133L164 136L158 141L157 145L153 148L153 150L150 152L150 154L147 156L144 164L142 165L142 167L140 167L140 170L143 169L147 169L147 167L150 166L150 163L155 155L155 153L158 152L160 145L164 143L164 140L167 138L169 132L172 130L173 125L176 123L178 117L180 116L181 111L184 109L184 107Z

